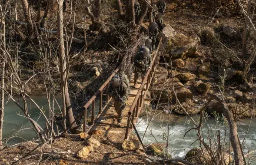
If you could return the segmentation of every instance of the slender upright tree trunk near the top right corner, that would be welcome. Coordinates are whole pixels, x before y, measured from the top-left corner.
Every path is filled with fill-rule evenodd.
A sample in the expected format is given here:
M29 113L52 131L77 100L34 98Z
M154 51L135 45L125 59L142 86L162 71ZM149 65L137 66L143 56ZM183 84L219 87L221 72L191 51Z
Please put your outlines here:
M247 8L247 15L250 15L250 10L251 10L251 3L252 0L249 0L248 2L248 8ZM246 39L247 39L247 27L248 27L248 18L245 16L245 22L243 26L243 69L245 68L246 65L246 54L247 54L247 48L246 48Z

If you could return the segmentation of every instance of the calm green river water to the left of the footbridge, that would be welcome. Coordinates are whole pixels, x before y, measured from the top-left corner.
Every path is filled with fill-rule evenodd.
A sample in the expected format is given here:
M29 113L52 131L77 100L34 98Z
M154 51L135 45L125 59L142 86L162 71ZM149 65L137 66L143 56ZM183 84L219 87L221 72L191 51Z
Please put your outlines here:
M43 109L45 114L49 116L49 108L46 96L32 96L33 100L38 104L38 106ZM22 105L22 99L18 96L15 98L16 101L19 100L20 105ZM62 99L61 96L56 96L56 100L60 107L62 107ZM52 106L53 98L51 98L51 106ZM37 121L37 123L45 129L45 119L41 115L39 109L27 99L27 106L31 109L31 117L33 120ZM60 112L59 108L54 103L55 109L54 113ZM5 105L4 105L4 116L3 116L3 138L13 137L12 139L8 140L9 145L13 145L17 142L24 142L31 139L37 139L37 134L33 131L32 126L27 118L20 116L23 115L23 112L18 108L18 106L12 101L9 100L7 102L7 98L5 98ZM22 130L22 131L20 131Z

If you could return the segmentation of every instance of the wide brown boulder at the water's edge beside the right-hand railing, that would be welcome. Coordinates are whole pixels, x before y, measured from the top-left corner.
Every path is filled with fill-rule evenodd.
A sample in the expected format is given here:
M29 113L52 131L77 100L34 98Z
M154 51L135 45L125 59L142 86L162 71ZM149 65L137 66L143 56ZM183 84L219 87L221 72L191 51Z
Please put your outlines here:
M190 92L190 90L187 89L177 78L170 79L167 83L165 83L164 79L158 80L157 84L152 86L150 89L152 98L155 98L156 101L160 99L160 102L176 102L176 96L171 88L172 86L174 86L177 98L181 102L186 99L193 99L193 93Z

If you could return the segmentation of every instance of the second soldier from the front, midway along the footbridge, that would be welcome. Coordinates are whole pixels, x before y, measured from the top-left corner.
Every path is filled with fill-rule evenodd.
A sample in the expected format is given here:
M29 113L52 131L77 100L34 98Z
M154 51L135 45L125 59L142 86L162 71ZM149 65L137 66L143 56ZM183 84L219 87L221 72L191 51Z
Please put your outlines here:
M151 64L151 56L150 50L146 46L143 46L141 52L138 52L133 59L135 71L134 71L134 86L137 84L137 80L139 78L139 73L141 73L142 77L146 74L147 69Z

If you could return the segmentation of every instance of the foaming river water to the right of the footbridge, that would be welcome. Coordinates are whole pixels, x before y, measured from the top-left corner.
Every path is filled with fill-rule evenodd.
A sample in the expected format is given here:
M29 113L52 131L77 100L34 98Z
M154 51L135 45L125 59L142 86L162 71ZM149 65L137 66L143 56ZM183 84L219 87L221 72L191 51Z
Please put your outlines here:
M197 121L199 116L192 116L195 121ZM150 120L150 118L149 118ZM190 118L186 116L179 116L170 114L169 117L169 147L168 153L173 158L184 158L186 153L196 146L193 142L196 140L195 130L190 131L183 138L185 133L193 127L193 122ZM241 143L243 142L244 136L249 126L250 119L241 119L238 122L238 133ZM140 118L137 122L136 129L140 134L140 137L143 138L144 132L148 125L148 119L145 116ZM221 142L224 142L226 129L226 146L229 146L228 136L229 136L229 127L225 126L223 119L219 116L218 121L216 122L215 117L210 116L203 120L203 132L209 135L214 135L216 137L217 130L220 130ZM167 142L167 132L168 132L168 115L160 113L152 120L150 127L147 129L145 137L143 138L143 144L150 144L152 142ZM210 132L210 133L209 133ZM165 139L166 138L166 139ZM206 136L205 136L206 138ZM156 139L156 140L155 140ZM197 143L198 144L198 143ZM191 145L191 146L190 146ZM229 147L228 147L229 148ZM250 124L249 131L246 135L246 139L243 145L244 152L256 150L256 118L252 119ZM231 152L232 153L232 152ZM255 154L253 154L255 155ZM256 165L256 162L253 162L251 165Z

